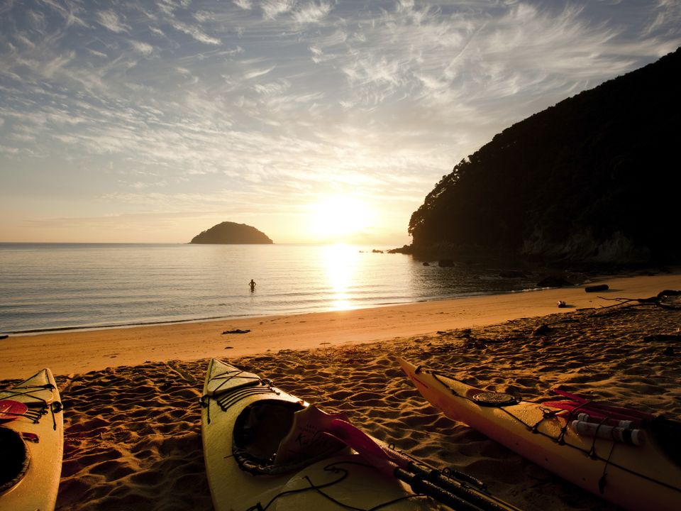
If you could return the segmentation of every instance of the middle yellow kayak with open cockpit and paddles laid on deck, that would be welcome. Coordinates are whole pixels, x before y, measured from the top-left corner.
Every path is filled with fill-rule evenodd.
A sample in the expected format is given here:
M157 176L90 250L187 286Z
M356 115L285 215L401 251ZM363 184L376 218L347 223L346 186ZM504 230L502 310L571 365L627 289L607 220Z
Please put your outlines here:
M216 511L517 511L228 363L210 361L201 405Z

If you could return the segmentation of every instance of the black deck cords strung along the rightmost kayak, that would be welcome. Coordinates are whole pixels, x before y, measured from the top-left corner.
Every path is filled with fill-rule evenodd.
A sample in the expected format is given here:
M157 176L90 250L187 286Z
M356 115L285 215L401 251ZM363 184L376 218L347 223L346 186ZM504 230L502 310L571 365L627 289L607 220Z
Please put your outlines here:
M453 378L453 376L446 375L444 373L438 373L435 370L423 369L422 366L419 366L418 368L416 368L415 374L419 374L421 372L426 372L426 373L431 374L433 376L433 378L438 383L440 383L440 385L442 385L444 388L449 390L449 392L452 395L454 395L456 397L460 397L463 400L474 402L475 404L479 405L479 403L477 403L475 400L471 399L470 397L467 397L465 395L461 395L458 392L456 392L456 390L454 390L449 385L447 385L447 383L443 382L443 380L441 380L439 377L449 378L450 380L454 380L454 381L457 381L459 383L463 383L464 385L467 385L463 380L460 380L458 378ZM526 402L531 402L531 403L536 403L537 405L541 405L541 402L536 402L536 401L526 401ZM577 410L578 408L585 407L586 404L587 403L582 403L582 404L578 405L577 407L575 407L575 410ZM681 493L680 487L677 487L675 485L671 485L669 483L665 483L665 482L657 480L655 478L651 478L650 476L646 476L645 474L636 472L636 471L632 470L631 468L626 468L625 466L621 466L619 463L614 463L613 461L611 461L611 457L612 457L612 454L614 452L614 448L615 448L615 445L616 445L616 441L614 441L614 439L612 440L612 446L611 446L611 449L610 449L610 452L609 452L607 458L604 458L602 456L599 456L599 454L597 454L597 452L596 452L597 437L596 436L594 436L591 449L589 449L589 450L582 449L582 447L580 447L580 446L566 442L565 441L565 434L567 433L568 424L570 424L569 419L570 419L570 417L572 417L573 412L575 412L575 410L569 411L569 414L567 415L567 421L565 422L565 426L563 426L561 428L560 434L558 434L558 436L554 437L554 436L551 436L550 434L546 434L544 432L539 431L538 427L542 422L549 419L550 417L555 417L559 412L563 412L563 410L548 410L547 408L539 407L539 410L541 410L541 412L542 412L542 418L539 419L539 421L536 424L528 424L523 419L521 419L521 417L518 417L518 416L516 416L516 414L514 414L510 410L507 410L506 407L498 407L498 408L499 408L499 410L502 410L504 413L508 414L510 417L515 419L520 424L523 424L528 429L528 431L531 432L532 434L539 434L541 436L544 436L544 437L550 439L551 441L555 442L556 444L558 444L560 446L572 447L572 449L577 449L577 451L584 453L586 456L589 456L589 458L592 458L594 461L602 461L603 463L605 463L603 476L602 476L601 480L599 480L599 483L598 483L599 491L601 493L603 493L605 485L606 485L605 477L607 475L607 467L608 466L613 466L613 467L619 468L621 471L631 473L633 476L640 477L642 479L650 481L651 483L656 483L658 485L664 486L665 488L669 488L670 490L675 490L675 491Z

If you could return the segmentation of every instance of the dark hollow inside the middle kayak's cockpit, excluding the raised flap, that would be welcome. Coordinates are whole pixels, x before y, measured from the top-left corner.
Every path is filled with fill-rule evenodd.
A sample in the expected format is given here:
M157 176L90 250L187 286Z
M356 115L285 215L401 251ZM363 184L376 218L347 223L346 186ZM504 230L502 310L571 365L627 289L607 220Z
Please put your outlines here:
M239 467L255 475L284 473L292 468L275 466L279 443L290 431L298 402L261 400L245 407L234 423L232 451Z

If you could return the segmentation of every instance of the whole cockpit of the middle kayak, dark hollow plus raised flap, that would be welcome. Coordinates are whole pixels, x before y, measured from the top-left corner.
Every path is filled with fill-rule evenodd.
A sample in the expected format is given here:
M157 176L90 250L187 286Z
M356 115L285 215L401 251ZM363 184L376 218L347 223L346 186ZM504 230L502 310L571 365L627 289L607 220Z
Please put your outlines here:
M302 402L260 400L248 405L233 429L232 452L239 467L255 475L276 475L347 449L324 433L319 414L323 412Z

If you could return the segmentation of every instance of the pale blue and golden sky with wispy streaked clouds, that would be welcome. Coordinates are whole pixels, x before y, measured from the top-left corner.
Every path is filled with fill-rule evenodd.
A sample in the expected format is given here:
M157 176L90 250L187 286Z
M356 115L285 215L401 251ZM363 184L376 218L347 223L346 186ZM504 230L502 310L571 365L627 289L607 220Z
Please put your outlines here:
M0 242L402 246L496 133L680 45L680 0L0 0Z

